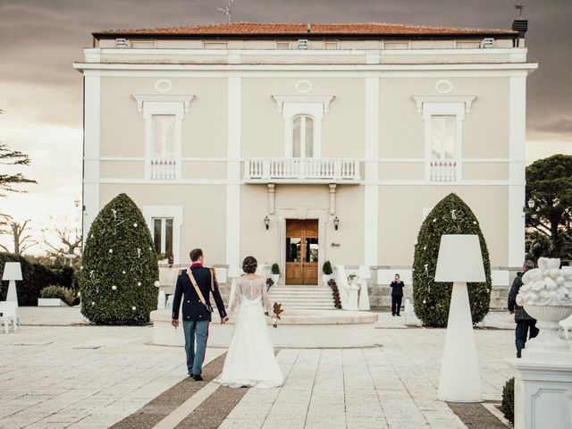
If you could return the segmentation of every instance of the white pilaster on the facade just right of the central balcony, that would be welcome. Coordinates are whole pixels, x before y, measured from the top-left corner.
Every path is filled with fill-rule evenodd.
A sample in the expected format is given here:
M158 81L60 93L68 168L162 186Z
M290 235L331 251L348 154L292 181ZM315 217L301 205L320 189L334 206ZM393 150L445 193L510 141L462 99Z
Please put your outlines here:
M364 265L379 265L378 222L379 190L379 78L366 78L366 147L364 191Z

